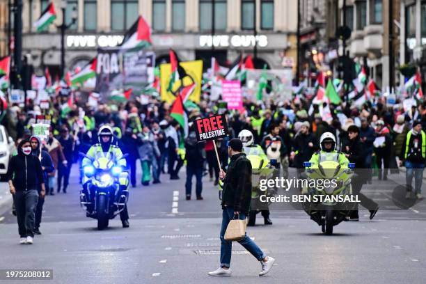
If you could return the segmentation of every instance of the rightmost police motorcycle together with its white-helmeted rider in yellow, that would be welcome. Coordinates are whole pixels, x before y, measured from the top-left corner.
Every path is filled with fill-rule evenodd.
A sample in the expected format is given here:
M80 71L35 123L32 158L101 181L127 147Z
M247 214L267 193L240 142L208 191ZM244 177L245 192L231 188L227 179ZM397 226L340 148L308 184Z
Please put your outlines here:
M348 221L354 207L349 197L355 164L335 150L336 138L330 132L322 134L320 143L321 150L303 163L307 182L303 184L302 194L309 197L303 208L325 235L333 235L333 226Z

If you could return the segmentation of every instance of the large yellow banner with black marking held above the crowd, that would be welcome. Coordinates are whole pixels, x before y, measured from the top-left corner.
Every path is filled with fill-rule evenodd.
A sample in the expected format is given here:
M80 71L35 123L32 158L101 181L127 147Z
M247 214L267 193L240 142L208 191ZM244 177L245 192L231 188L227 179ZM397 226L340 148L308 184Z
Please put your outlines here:
M203 79L203 61L196 60L181 62L180 66L185 70L185 72L187 72L187 76L176 81L175 84L173 84L171 91L168 91L168 84L171 79L171 64L166 63L160 65L161 100L172 103L175 100L175 96L178 95L179 89L195 83L196 88L192 94L189 95L189 100L196 103L200 102L201 81Z

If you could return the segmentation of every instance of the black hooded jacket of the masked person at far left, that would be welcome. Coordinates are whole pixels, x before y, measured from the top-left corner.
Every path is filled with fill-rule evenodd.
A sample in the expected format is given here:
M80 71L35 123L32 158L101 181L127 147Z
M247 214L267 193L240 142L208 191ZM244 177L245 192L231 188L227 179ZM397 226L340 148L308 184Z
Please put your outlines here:
M17 191L38 189L44 182L40 159L33 155L24 155L20 147L18 155L10 159L7 180L13 180Z

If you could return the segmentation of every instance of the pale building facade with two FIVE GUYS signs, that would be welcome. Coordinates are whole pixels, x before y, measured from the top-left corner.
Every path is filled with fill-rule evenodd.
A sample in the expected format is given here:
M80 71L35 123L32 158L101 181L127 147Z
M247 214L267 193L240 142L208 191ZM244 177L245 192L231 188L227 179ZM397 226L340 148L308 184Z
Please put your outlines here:
M282 68L285 56L296 55L297 6L292 0L54 0L55 25L36 33L33 22L48 3L24 1L23 49L36 70L59 69L61 36L55 25L62 23L61 4L65 24L72 22L73 10L78 15L65 36L67 70L87 63L99 47L120 44L138 15L152 28L157 63L168 60L170 48L181 61L200 58L210 65L215 56L225 65L239 54L253 55L256 46L259 68Z

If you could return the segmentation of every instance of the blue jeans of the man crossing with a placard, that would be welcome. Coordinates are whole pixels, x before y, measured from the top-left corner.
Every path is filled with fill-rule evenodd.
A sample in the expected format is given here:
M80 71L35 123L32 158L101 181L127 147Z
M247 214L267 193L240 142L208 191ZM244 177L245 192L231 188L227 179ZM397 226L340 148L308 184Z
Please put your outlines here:
M223 210L222 214L222 228L221 228L221 267L230 267L230 258L232 253L232 242L225 240L226 228L228 228L228 223L234 219L234 208L226 208ZM244 213L239 214L240 220L245 220L246 215ZM239 244L244 246L247 251L249 251L257 260L262 260L266 258L265 253L262 252L260 247L253 242L246 233L246 237L241 241L238 241Z

